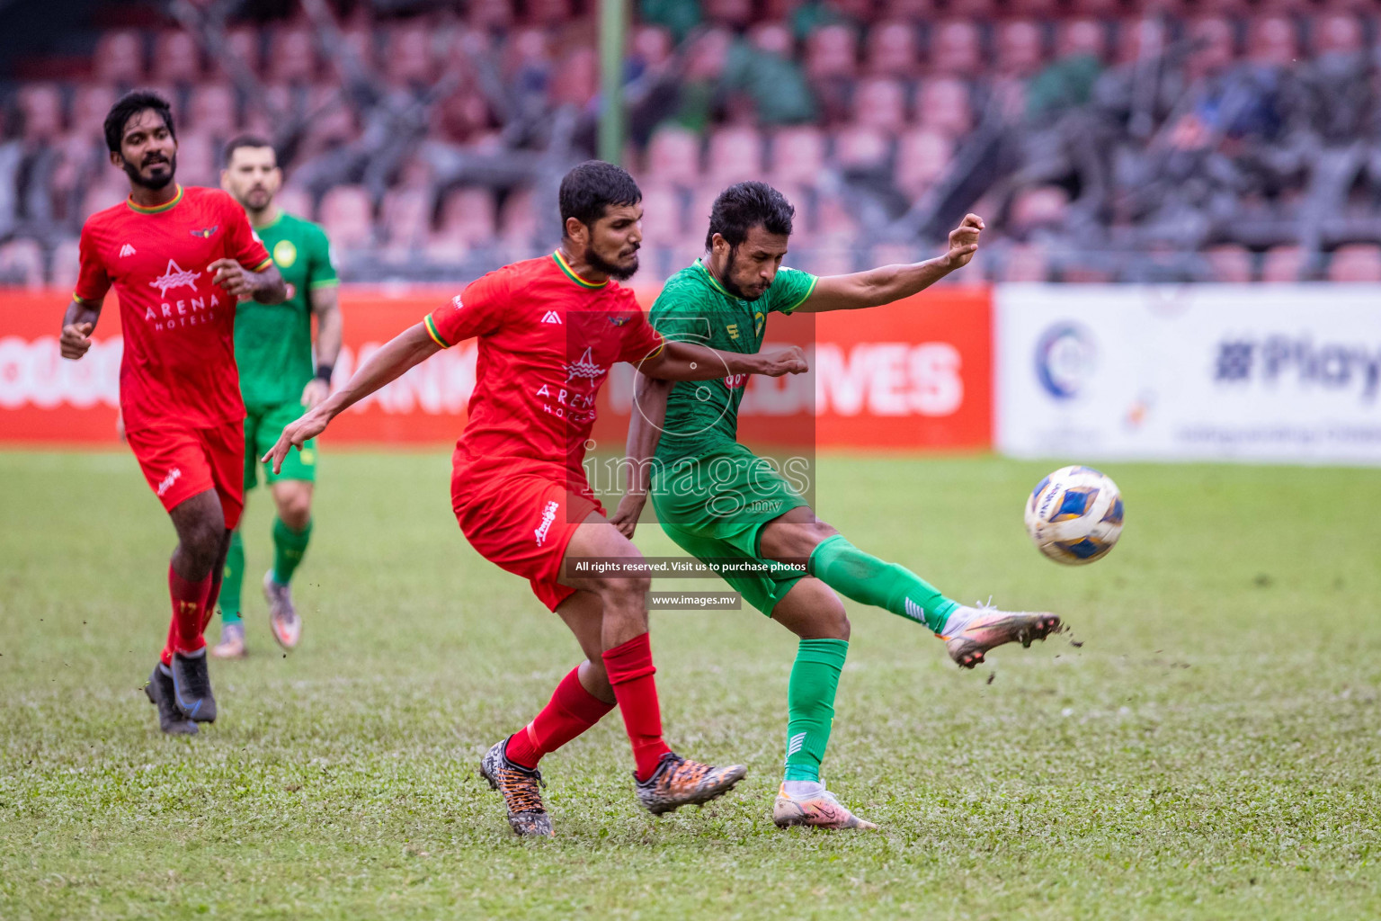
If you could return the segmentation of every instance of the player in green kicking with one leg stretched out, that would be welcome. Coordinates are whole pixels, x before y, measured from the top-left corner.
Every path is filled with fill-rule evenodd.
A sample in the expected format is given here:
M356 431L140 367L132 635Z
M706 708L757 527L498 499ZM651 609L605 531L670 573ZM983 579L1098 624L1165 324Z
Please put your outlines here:
M983 220L969 214L939 258L816 278L782 266L794 214L762 182L725 189L710 214L706 257L674 275L652 305L657 331L726 352L757 352L771 313L860 309L909 297L967 265L983 231ZM873 828L820 780L849 639L836 592L924 624L964 668L994 646L1044 639L1059 628L1059 617L961 606L909 569L851 544L815 516L775 465L739 445L744 384L740 376L700 384L638 376L628 493L610 522L631 537L650 482L663 530L686 552L703 561L775 563L766 576L725 576L754 608L800 637L773 820L783 827ZM787 566L798 561L807 561L808 574Z

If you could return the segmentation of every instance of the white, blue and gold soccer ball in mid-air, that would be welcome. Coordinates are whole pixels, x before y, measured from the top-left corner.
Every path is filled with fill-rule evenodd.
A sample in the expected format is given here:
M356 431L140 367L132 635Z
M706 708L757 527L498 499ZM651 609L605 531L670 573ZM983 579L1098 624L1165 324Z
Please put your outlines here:
M1117 485L1092 467L1061 467L1026 500L1026 533L1040 552L1069 566L1106 556L1121 521Z

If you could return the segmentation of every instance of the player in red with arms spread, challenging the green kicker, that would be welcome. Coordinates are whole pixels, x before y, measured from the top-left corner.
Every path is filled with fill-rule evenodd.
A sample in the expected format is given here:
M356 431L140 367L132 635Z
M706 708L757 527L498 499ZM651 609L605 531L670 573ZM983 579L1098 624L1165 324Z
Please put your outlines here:
M581 461L595 396L615 362L655 378L801 373L791 347L739 355L663 340L619 280L638 268L642 192L621 168L590 160L561 182L561 249L478 279L460 297L403 331L333 396L283 429L265 456L275 469L291 446L319 435L347 406L418 362L479 337L470 420L453 456L452 507L470 543L490 562L530 580L574 632L586 660L537 717L494 744L481 773L504 795L518 834L551 834L539 759L617 704L637 769L638 799L655 815L728 791L746 769L675 755L648 641L646 577L573 574L580 558L639 559L605 519ZM754 360L761 359L761 360Z

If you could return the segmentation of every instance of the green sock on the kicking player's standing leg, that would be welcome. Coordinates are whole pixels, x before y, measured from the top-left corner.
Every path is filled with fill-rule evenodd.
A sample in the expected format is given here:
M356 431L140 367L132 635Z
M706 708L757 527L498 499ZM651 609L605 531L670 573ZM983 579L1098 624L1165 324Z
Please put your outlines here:
M847 639L802 639L786 686L786 776L819 780L824 747L834 724L834 692L840 686Z

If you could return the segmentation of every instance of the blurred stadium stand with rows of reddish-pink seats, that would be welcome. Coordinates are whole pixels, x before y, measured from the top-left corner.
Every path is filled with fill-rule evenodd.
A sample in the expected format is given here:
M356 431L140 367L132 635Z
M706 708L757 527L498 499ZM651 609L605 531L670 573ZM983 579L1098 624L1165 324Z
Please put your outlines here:
M30 6L30 4L17 4ZM273 141L280 204L347 280L463 280L555 242L594 155L595 0L50 0L4 44L0 283L66 286L128 186L101 122L131 87L178 116L178 178ZM11 11L12 12L12 8ZM703 249L762 178L818 273L936 251L967 278L1381 282L1377 0L634 0L624 164L644 271ZM0 11L0 28L7 25ZM17 35L18 30L18 35Z

